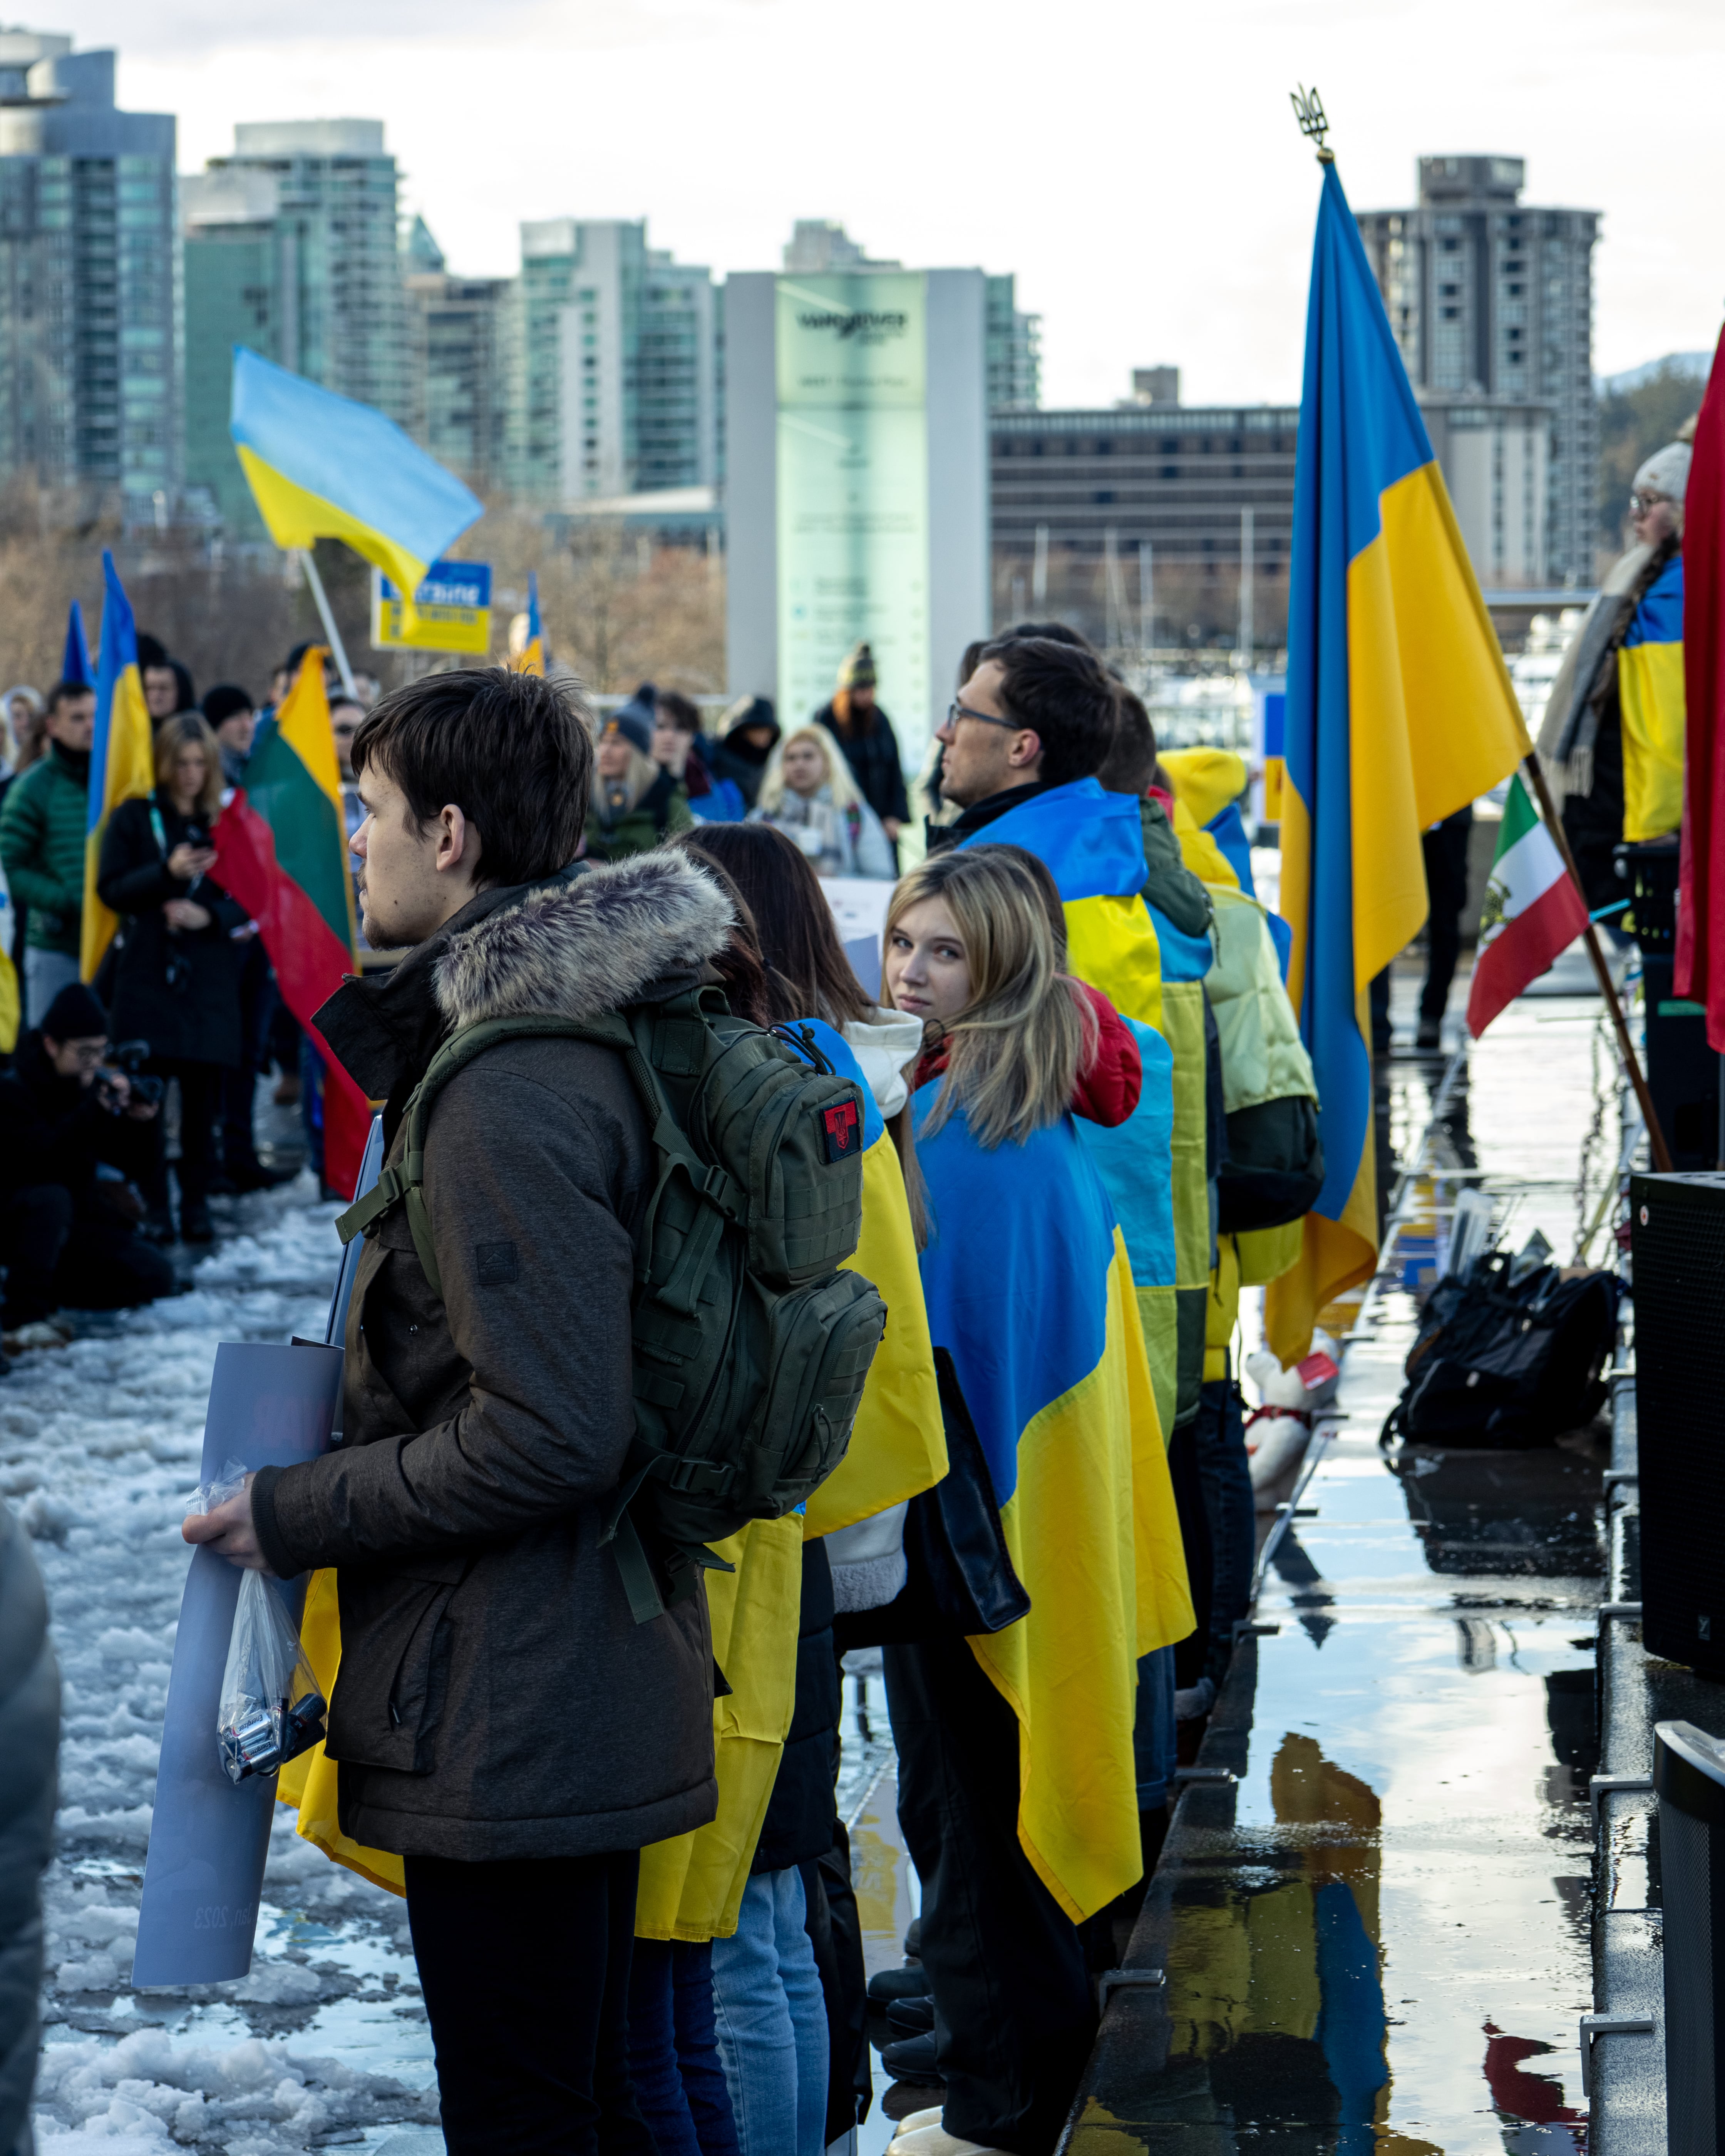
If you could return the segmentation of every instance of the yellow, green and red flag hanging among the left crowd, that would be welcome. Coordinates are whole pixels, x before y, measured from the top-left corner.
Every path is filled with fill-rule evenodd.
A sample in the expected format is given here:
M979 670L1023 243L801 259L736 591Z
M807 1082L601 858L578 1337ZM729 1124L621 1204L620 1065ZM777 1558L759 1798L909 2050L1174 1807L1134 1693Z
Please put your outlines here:
M313 1013L343 977L358 972L347 817L321 645L306 651L300 679L257 729L246 785L216 821L216 860L222 888L259 925L282 1003L323 1056L323 1179L351 1190L371 1108L313 1026Z

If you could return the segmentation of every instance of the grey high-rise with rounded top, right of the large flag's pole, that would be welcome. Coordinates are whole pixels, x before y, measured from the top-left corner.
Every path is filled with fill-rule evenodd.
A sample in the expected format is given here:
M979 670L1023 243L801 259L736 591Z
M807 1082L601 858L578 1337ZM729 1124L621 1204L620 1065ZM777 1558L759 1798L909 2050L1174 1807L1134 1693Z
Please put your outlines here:
M1421 157L1419 205L1363 211L1358 226L1475 569L1486 582L1587 584L1600 218L1524 205L1520 157ZM1544 515L1527 509L1529 485Z

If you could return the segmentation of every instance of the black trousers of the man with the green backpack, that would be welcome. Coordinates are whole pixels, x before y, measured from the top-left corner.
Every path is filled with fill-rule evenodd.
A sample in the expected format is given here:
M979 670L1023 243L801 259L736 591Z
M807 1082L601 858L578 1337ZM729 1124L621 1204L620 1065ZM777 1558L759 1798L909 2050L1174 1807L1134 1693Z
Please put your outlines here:
M640 1852L405 1871L451 2156L656 2156L630 2083Z

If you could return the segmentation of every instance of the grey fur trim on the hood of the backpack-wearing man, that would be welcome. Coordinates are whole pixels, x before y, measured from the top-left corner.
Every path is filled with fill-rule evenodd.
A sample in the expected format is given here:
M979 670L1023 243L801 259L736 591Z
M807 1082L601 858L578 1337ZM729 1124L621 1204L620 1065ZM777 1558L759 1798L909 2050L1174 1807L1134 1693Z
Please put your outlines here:
M731 901L688 854L634 854L567 884L535 884L448 938L433 972L451 1026L485 1018L599 1018L656 981L694 975L731 934Z

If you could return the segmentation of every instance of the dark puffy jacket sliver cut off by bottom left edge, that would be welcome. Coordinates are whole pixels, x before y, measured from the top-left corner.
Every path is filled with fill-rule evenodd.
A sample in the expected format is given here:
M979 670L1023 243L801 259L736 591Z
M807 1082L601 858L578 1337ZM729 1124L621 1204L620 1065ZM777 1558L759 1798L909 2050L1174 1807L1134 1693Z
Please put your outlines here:
M41 2044L41 1874L54 1852L60 1669L30 1539L0 1503L0 2150L24 2139Z

